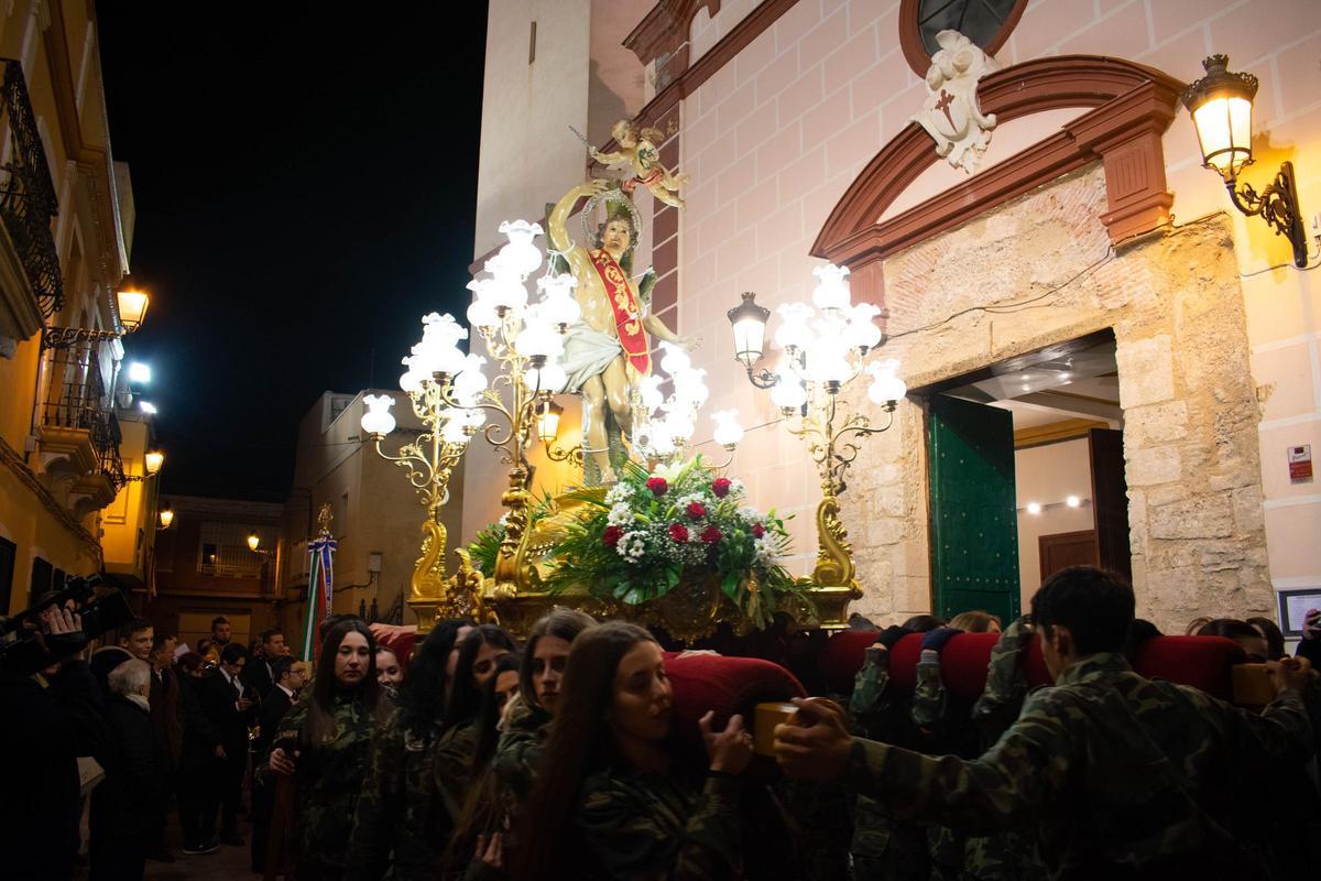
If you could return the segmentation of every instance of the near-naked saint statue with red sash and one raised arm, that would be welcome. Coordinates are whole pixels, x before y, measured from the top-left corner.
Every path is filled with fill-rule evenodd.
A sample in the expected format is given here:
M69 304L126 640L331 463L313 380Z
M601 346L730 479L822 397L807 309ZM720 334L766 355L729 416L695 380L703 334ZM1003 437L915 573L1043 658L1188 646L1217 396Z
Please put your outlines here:
M590 247L576 243L567 229L580 198L588 199L583 217ZM605 219L592 231L589 223L602 203ZM699 341L680 338L650 313L654 272L649 269L641 284L630 276L642 223L616 182L594 180L575 186L551 209L547 226L552 247L577 281L573 296L583 310L564 334L560 366L568 374L564 391L583 395L585 478L588 483L614 483L620 457L612 457L610 450L622 450L622 442L630 440L633 392L651 372L647 334L684 349L696 347Z

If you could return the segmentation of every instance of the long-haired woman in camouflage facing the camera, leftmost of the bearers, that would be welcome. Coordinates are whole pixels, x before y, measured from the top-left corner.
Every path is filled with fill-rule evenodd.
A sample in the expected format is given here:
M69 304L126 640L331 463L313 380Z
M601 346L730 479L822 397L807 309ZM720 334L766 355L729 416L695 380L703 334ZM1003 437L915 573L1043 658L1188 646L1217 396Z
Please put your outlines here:
M293 840L299 881L343 876L371 734L388 711L375 655L375 639L363 621L333 626L321 645L310 697L304 695L289 709L276 733L268 770L299 783Z

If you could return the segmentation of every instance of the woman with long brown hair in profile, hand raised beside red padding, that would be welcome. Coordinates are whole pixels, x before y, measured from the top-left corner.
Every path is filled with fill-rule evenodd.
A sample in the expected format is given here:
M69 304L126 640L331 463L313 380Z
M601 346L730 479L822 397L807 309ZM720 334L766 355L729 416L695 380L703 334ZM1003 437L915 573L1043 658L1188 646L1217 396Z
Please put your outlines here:
M569 650L564 693L543 767L518 818L510 863L518 881L675 878L742 873L742 783L752 736L732 716L700 720L708 769L675 758L672 695L660 646L646 630L608 622Z

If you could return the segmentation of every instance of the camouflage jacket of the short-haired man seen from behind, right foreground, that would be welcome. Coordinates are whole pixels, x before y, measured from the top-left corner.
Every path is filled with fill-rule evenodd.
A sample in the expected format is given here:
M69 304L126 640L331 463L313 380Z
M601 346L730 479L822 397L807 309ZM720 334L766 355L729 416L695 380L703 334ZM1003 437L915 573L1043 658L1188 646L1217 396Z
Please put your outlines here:
M1310 750L1296 691L1255 716L1096 654L1029 696L978 759L856 740L844 779L960 832L1030 828L1052 878L1243 878L1225 822L1235 771L1277 773Z

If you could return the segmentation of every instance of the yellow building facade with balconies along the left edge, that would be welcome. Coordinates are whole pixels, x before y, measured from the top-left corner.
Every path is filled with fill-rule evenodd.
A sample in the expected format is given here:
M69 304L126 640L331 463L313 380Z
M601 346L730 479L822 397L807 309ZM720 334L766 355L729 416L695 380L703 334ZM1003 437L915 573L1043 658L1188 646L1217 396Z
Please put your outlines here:
M91 0L0 9L0 612L8 613L63 575L106 569L145 586L155 481L141 479L149 420L120 412L132 396L115 292L128 272L133 201L128 168L111 153Z

